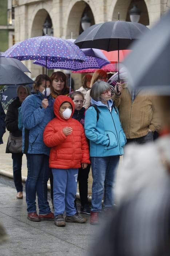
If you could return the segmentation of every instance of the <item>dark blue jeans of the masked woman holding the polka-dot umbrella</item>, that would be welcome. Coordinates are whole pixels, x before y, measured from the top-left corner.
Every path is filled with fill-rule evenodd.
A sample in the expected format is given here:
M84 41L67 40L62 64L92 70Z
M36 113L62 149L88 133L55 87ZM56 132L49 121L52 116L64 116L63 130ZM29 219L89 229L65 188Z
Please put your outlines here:
M25 183L28 213L36 212L36 193L39 214L51 212L47 201L47 181L50 177L49 157L44 154L26 154L28 176Z

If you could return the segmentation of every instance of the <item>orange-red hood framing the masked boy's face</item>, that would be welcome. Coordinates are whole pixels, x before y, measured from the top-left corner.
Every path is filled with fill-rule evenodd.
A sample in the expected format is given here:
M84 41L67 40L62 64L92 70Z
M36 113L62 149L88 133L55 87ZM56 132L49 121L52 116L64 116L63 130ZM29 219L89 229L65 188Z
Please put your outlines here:
M59 114L59 109L60 109L60 106L63 104L63 102L69 102L71 104L71 106L72 106L72 113L71 113L71 117L70 118L72 118L72 115L74 114L74 102L72 101L72 99L70 97L64 96L64 95L59 95L55 99L55 101L54 101L54 114L55 114L55 116L58 119L63 120L63 118L60 117L60 114Z

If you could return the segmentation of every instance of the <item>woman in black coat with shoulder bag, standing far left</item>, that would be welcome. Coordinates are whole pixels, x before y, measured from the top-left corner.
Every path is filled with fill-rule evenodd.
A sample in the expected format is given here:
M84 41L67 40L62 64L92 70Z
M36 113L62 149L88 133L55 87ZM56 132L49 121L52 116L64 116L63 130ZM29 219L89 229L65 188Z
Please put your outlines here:
M17 87L17 98L8 106L6 115L6 127L12 136L21 137L22 131L18 129L18 108L21 106L24 99L29 95L28 89L20 85ZM9 140L8 140L9 142ZM17 190L17 199L23 198L23 185L21 176L22 166L22 151L20 153L11 152L9 150L9 143L7 143L6 153L12 153L13 160L13 180Z

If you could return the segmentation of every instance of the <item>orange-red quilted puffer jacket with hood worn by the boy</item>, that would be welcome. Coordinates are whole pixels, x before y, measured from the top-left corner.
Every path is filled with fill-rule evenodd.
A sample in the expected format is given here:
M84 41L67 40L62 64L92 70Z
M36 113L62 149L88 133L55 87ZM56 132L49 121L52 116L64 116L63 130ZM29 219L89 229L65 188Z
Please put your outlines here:
M70 102L71 117L66 120L60 117L59 109L63 102ZM43 139L46 146L51 147L49 165L55 169L73 169L81 167L81 163L90 163L89 150L84 128L79 121L72 118L74 102L70 97L60 95L54 102L55 118L44 129ZM65 136L63 128L71 127L72 133Z

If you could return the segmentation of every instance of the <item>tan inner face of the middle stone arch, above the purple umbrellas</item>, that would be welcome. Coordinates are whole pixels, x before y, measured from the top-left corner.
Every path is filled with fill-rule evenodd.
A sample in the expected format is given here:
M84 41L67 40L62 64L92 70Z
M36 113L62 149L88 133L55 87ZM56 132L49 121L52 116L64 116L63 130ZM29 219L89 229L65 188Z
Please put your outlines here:
M66 21L66 31L65 36L66 38L71 38L71 32L72 32L72 38L77 38L79 36L80 31L80 20L82 18L84 9L86 8L86 5L88 7L87 14L89 18L91 18L91 25L95 24L95 18L94 18L94 5L89 3L86 3L86 1L71 1L68 12L67 12L67 21Z

